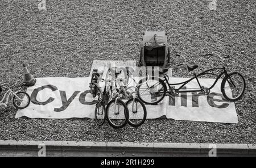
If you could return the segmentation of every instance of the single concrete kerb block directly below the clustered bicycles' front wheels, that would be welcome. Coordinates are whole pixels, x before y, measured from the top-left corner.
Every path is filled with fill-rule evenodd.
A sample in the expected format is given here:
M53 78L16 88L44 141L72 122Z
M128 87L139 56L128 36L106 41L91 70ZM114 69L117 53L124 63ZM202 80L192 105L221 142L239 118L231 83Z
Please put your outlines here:
M107 142L107 151L153 152L153 143Z

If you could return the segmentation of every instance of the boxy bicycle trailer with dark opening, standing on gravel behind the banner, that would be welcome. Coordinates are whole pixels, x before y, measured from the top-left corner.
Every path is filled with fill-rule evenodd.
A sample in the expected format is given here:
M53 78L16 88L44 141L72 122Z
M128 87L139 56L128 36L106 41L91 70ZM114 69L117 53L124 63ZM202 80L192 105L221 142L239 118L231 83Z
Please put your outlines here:
M170 63L170 48L164 31L143 32L140 63L142 66L165 68Z

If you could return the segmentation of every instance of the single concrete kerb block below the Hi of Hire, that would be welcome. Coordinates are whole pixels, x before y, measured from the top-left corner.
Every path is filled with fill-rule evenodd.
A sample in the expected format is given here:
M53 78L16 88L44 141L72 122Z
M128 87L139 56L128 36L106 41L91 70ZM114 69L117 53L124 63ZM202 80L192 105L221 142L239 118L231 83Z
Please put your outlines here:
M153 143L153 152L158 153L200 153L200 144Z

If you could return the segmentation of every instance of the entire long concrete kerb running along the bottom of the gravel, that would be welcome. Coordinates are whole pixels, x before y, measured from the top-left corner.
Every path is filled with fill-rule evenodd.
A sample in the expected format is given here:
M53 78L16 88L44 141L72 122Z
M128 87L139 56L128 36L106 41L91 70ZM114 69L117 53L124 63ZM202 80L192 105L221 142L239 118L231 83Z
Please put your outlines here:
M154 152L154 153L209 153L216 145L218 154L256 154L253 144L189 144L161 142L93 142L93 141L3 141L0 150L46 150L102 151L102 152ZM212 145L212 146L210 146Z

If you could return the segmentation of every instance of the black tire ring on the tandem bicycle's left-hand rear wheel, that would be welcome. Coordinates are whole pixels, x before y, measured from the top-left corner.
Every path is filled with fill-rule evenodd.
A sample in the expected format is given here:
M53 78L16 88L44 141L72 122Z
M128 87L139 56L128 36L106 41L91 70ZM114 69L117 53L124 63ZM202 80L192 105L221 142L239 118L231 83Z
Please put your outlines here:
M162 79L160 79L160 78L157 78L157 77L150 77L149 79L156 79L156 80L158 80L160 83L161 83L161 85L163 86L163 95L162 95L162 97L159 99L159 100L157 100L156 102L147 102L146 100L144 100L142 97L141 97L141 95L139 94L139 90L141 89L141 84L142 84L142 81L147 81L147 78L143 78L143 79L141 79L140 81L139 81L139 87L138 87L138 91L137 91L137 95L138 95L138 98L143 102L143 103L145 103L145 104L158 104L159 102L161 102L163 99L164 99L164 96L166 96L166 91L167 91L167 87L166 87L166 83L164 83L164 81L162 80Z

